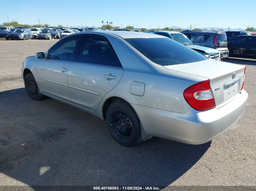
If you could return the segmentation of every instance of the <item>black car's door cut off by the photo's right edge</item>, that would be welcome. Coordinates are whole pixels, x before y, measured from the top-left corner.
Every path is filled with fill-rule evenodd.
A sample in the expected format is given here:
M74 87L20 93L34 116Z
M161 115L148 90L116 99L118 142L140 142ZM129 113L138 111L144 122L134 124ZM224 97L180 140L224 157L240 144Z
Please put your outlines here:
M256 37L247 36L245 43L243 44L243 57L252 58L256 57Z

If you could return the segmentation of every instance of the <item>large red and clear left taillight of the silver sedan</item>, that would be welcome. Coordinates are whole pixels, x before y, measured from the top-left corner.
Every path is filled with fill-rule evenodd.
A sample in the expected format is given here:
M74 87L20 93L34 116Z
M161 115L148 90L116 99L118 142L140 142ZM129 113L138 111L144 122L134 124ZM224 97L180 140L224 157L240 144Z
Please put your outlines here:
M184 98L195 110L204 111L216 107L210 80L191 85L185 89Z

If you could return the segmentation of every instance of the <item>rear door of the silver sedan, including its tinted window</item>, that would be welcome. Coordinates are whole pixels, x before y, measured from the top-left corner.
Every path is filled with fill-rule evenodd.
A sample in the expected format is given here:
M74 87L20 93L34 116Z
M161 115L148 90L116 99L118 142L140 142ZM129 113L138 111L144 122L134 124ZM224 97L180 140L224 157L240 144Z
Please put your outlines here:
M95 111L122 75L123 68L108 40L102 36L85 35L68 73L72 103Z

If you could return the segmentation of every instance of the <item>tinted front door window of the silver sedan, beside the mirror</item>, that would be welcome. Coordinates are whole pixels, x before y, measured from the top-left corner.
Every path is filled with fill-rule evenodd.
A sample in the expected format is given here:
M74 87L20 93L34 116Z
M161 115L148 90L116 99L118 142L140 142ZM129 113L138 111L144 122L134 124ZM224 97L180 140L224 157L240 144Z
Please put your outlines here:
M81 36L73 36L63 39L49 50L47 59L71 60L80 37Z

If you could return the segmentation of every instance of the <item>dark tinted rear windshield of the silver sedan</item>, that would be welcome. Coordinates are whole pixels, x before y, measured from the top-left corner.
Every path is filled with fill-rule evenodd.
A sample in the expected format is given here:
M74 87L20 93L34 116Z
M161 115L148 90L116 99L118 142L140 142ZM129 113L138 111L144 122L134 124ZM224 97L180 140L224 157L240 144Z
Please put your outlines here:
M159 65L185 64L208 59L170 38L132 38L125 40L141 54Z

